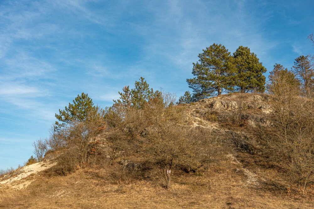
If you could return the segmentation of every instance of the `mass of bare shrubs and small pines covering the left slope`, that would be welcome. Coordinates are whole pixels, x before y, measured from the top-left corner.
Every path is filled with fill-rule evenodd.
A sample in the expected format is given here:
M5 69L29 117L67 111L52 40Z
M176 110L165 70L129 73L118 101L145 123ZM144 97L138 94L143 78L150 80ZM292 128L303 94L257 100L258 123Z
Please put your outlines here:
M208 131L184 124L175 95L154 91L143 78L134 89L122 90L105 110L87 94L78 95L56 115L62 123L56 122L51 136L33 143L36 158L28 164L40 162L50 150L59 153L56 171L61 175L84 167L106 168L108 176L119 180L165 174L161 182L169 188L167 170L197 172L219 159L221 144Z

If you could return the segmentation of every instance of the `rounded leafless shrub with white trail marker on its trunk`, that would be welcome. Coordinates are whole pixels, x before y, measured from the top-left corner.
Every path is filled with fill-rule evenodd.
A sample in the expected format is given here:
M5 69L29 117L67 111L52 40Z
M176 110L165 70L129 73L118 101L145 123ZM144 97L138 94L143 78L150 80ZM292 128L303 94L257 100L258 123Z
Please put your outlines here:
M164 107L162 102L149 101L145 109L149 131L142 138L142 152L152 165L158 165L170 187L171 174L177 169L195 172L204 164L215 160L216 142L207 131L182 126L182 116L173 106Z

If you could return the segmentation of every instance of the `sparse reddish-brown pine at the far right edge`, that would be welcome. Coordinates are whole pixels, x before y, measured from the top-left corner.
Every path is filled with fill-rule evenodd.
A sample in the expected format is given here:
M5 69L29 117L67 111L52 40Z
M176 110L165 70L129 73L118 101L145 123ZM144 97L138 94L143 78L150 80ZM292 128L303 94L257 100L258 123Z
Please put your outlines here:
M309 56L299 56L295 59L292 67L295 76L302 83L302 88L307 97L313 96L314 90L314 67L309 60Z

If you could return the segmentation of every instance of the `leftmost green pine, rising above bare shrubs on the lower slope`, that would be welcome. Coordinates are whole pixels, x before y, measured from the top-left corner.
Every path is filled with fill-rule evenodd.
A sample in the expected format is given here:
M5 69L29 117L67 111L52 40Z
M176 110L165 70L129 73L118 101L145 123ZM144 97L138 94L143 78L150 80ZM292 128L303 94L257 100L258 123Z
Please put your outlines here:
M84 92L81 95L78 94L73 100L73 104L69 103L69 106L66 106L64 110L59 109L59 115L55 115L58 121L62 122L60 124L56 121L57 128L85 121L89 112L94 110L96 110L96 107L88 94L84 94Z

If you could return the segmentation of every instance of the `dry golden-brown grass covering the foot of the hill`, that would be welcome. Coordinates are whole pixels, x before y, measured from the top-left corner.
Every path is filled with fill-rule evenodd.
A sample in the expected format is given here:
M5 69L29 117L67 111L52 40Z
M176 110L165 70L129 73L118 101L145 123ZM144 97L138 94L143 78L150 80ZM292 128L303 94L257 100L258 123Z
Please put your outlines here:
M248 154L237 156L246 169L256 173L258 185L233 159L213 164L199 173L174 171L170 190L156 187L149 177L133 181L112 181L108 173L80 169L68 176L41 172L27 190L0 190L4 208L311 208L314 201L293 198L275 190L262 179L277 175L263 166L263 159ZM239 171L237 171L237 169ZM265 174L264 174L265 173Z

